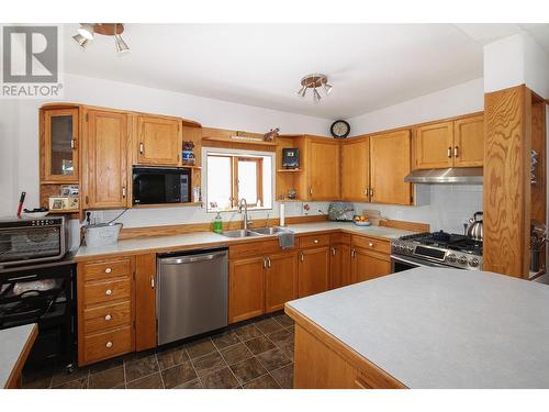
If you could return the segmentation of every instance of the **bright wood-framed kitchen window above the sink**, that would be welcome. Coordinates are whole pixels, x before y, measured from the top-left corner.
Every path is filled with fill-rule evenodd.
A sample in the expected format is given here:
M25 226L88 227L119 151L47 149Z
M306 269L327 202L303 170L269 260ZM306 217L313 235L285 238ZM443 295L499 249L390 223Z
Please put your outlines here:
M246 199L249 209L272 207L272 157L244 152L208 152L208 211L231 211Z

